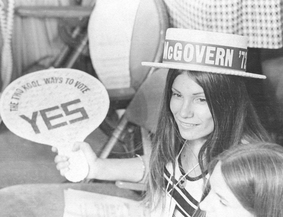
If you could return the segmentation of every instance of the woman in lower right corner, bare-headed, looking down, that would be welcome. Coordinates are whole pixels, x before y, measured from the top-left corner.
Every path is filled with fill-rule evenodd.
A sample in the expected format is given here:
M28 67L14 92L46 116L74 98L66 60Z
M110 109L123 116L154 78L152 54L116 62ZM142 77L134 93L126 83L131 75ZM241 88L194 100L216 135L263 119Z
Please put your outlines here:
M208 170L211 190L200 203L207 216L283 216L282 146L237 146L213 159Z

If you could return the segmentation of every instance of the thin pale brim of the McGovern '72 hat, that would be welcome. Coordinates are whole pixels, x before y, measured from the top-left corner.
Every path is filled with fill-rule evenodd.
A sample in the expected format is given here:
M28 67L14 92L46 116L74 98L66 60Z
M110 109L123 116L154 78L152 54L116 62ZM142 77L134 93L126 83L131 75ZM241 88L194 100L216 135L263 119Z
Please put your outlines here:
M210 66L201 66L201 65L194 65L194 64L141 62L141 65L151 66L151 67L156 67L156 68L181 69L181 70L191 70L191 71L205 71L205 72L225 74L225 75L238 75L238 76L243 76L243 77L266 79L265 75L248 73L248 72L238 71L238 70L213 68L213 67L210 67Z

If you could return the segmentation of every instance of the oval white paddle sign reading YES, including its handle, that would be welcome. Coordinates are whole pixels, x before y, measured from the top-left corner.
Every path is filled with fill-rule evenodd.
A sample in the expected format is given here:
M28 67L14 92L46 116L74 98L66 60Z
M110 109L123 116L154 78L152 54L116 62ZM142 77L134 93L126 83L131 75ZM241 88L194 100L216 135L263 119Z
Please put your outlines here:
M69 158L69 181L83 180L88 164L72 152L106 117L108 93L93 76L75 69L48 69L24 75L3 91L0 114L5 125L25 139L55 146Z

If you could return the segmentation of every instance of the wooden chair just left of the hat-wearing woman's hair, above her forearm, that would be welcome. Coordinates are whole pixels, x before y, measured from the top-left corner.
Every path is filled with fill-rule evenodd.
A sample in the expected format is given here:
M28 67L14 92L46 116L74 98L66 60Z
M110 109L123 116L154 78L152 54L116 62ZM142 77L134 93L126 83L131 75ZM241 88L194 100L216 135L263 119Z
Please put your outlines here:
M168 69L153 71L141 84L124 115L125 120L141 127L143 154L147 160L151 153L151 135L156 131L167 73ZM145 190L144 182L145 179L141 183L116 181L116 185L142 191Z

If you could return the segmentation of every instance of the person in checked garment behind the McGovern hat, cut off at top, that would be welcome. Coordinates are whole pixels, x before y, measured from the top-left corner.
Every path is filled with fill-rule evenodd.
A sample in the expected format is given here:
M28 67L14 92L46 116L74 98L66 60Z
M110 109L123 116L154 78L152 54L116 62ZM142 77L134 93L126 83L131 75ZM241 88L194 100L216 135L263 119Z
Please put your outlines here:
M248 90L267 130L282 134L283 124L283 10L280 0L164 0L174 28L226 32L248 37L250 72L268 81L251 81ZM259 101L265 101L265 106ZM264 111L265 110L265 111ZM264 111L262 113L262 111ZM267 114L266 114L267 113ZM278 141L279 142L279 141Z

